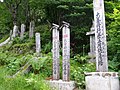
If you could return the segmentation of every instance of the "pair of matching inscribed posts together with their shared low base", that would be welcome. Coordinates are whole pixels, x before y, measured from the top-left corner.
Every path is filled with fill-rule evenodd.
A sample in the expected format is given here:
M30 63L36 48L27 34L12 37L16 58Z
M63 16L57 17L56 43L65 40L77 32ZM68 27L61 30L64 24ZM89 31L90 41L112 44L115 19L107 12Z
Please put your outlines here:
M62 28L62 80L60 80L60 41L59 41L59 25L52 26L52 42L53 42L53 80L50 81L52 88L55 90L73 90L75 88L74 81L70 81L70 28L69 23L63 21Z

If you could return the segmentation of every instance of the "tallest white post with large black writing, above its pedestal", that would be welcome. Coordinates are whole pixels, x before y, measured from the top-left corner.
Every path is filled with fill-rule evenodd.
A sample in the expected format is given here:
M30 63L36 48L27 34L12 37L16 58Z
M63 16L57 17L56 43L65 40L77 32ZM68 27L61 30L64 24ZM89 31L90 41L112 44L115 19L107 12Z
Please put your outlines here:
M93 0L96 42L96 69L108 71L106 27L103 0Z

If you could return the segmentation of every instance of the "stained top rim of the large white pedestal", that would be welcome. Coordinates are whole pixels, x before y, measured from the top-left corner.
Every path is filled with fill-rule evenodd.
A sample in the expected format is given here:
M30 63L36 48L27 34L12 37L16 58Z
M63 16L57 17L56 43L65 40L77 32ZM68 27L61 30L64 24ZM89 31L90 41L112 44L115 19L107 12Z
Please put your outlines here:
M118 72L85 72L85 76L119 77Z

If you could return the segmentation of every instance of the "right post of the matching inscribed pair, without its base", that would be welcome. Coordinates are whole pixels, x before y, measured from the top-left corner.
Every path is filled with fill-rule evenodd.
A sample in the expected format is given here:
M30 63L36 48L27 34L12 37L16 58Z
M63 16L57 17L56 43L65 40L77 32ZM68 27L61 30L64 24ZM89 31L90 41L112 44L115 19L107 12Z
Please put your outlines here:
M70 29L69 23L63 22L62 28L62 56L63 56L63 81L70 80Z

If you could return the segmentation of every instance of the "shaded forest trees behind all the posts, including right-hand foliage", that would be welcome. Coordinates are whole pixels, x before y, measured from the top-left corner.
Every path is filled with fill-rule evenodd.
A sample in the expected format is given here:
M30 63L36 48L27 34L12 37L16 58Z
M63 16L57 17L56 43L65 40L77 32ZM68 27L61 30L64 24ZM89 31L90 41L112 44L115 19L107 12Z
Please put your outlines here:
M105 0L108 54L110 59L118 58L120 53L120 2ZM0 39L8 35L13 25L24 23L29 28L30 21L35 21L35 32L42 35L42 45L51 43L52 23L61 25L70 23L71 51L89 52L89 36L93 21L92 0L12 0L0 3ZM49 51L50 49L48 49ZM120 58L118 59L120 60Z

